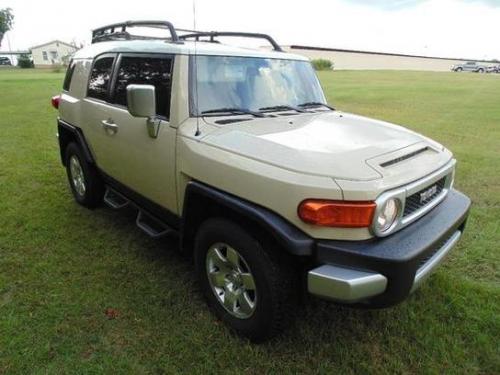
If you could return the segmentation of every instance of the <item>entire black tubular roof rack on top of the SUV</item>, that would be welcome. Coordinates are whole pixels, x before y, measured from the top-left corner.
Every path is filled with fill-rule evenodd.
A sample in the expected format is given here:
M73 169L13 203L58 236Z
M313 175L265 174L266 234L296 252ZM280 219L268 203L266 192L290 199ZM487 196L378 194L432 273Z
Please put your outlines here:
M153 36L140 36L133 35L127 31L127 28L134 26L149 27L155 29L166 29L170 32L170 38L160 38ZM188 34L177 35L177 31L187 32ZM222 37L241 37L241 38L255 38L255 39L265 39L267 40L275 51L283 52L278 43L267 34L257 34L257 33L245 33L245 32L233 32L233 31L196 31L196 30L185 30L185 29L175 29L174 25L168 21L126 21L120 23L114 23L111 25L99 27L98 29L92 30L92 43L104 42L106 40L133 40L133 39L160 39L168 40L173 43L182 43L186 39L195 39L200 41L202 37L209 37L207 42L218 43L215 38Z

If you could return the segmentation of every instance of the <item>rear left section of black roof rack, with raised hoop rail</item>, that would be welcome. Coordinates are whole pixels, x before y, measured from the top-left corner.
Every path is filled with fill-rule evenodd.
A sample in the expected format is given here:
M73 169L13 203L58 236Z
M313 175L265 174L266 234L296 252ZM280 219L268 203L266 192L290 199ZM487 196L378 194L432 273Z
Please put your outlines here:
M174 25L168 21L126 21L114 23L111 25L99 27L92 30L92 43L103 42L105 40L120 40L120 39L165 39L157 37L143 37L131 35L127 32L127 27L143 26L157 29L168 29L170 32L170 39L174 43L182 43L175 31ZM119 29L116 30L116 29Z

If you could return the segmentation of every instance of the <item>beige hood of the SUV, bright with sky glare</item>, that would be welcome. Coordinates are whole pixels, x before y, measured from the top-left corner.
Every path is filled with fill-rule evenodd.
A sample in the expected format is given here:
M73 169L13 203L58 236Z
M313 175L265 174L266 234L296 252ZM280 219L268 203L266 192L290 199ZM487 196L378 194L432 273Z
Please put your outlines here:
M397 164L390 161L404 159L405 148L415 154L407 159L426 154L426 163L431 164L431 154L443 150L403 127L337 111L255 118L223 126L217 125L217 118L205 121L218 126L203 138L209 145L291 171L346 180L382 178L381 165Z

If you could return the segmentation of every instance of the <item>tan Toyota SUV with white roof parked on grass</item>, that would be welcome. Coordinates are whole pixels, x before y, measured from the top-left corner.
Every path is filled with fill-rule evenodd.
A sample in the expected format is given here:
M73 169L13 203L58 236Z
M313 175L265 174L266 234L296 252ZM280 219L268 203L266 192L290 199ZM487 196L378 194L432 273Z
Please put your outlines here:
M273 50L220 42L233 36ZM310 62L267 35L106 26L52 102L76 201L131 205L148 235L178 234L215 314L254 341L308 294L404 300L464 230L449 150L328 106Z

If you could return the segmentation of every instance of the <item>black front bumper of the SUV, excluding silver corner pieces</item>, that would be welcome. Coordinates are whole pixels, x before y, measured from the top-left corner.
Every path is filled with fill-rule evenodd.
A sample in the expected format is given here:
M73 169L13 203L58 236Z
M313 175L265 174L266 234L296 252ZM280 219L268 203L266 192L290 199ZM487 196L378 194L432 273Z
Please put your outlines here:
M452 189L428 214L391 236L368 241L317 241L315 261L384 275L385 292L357 305L394 305L410 294L422 263L454 233L464 230L470 205L468 197Z

